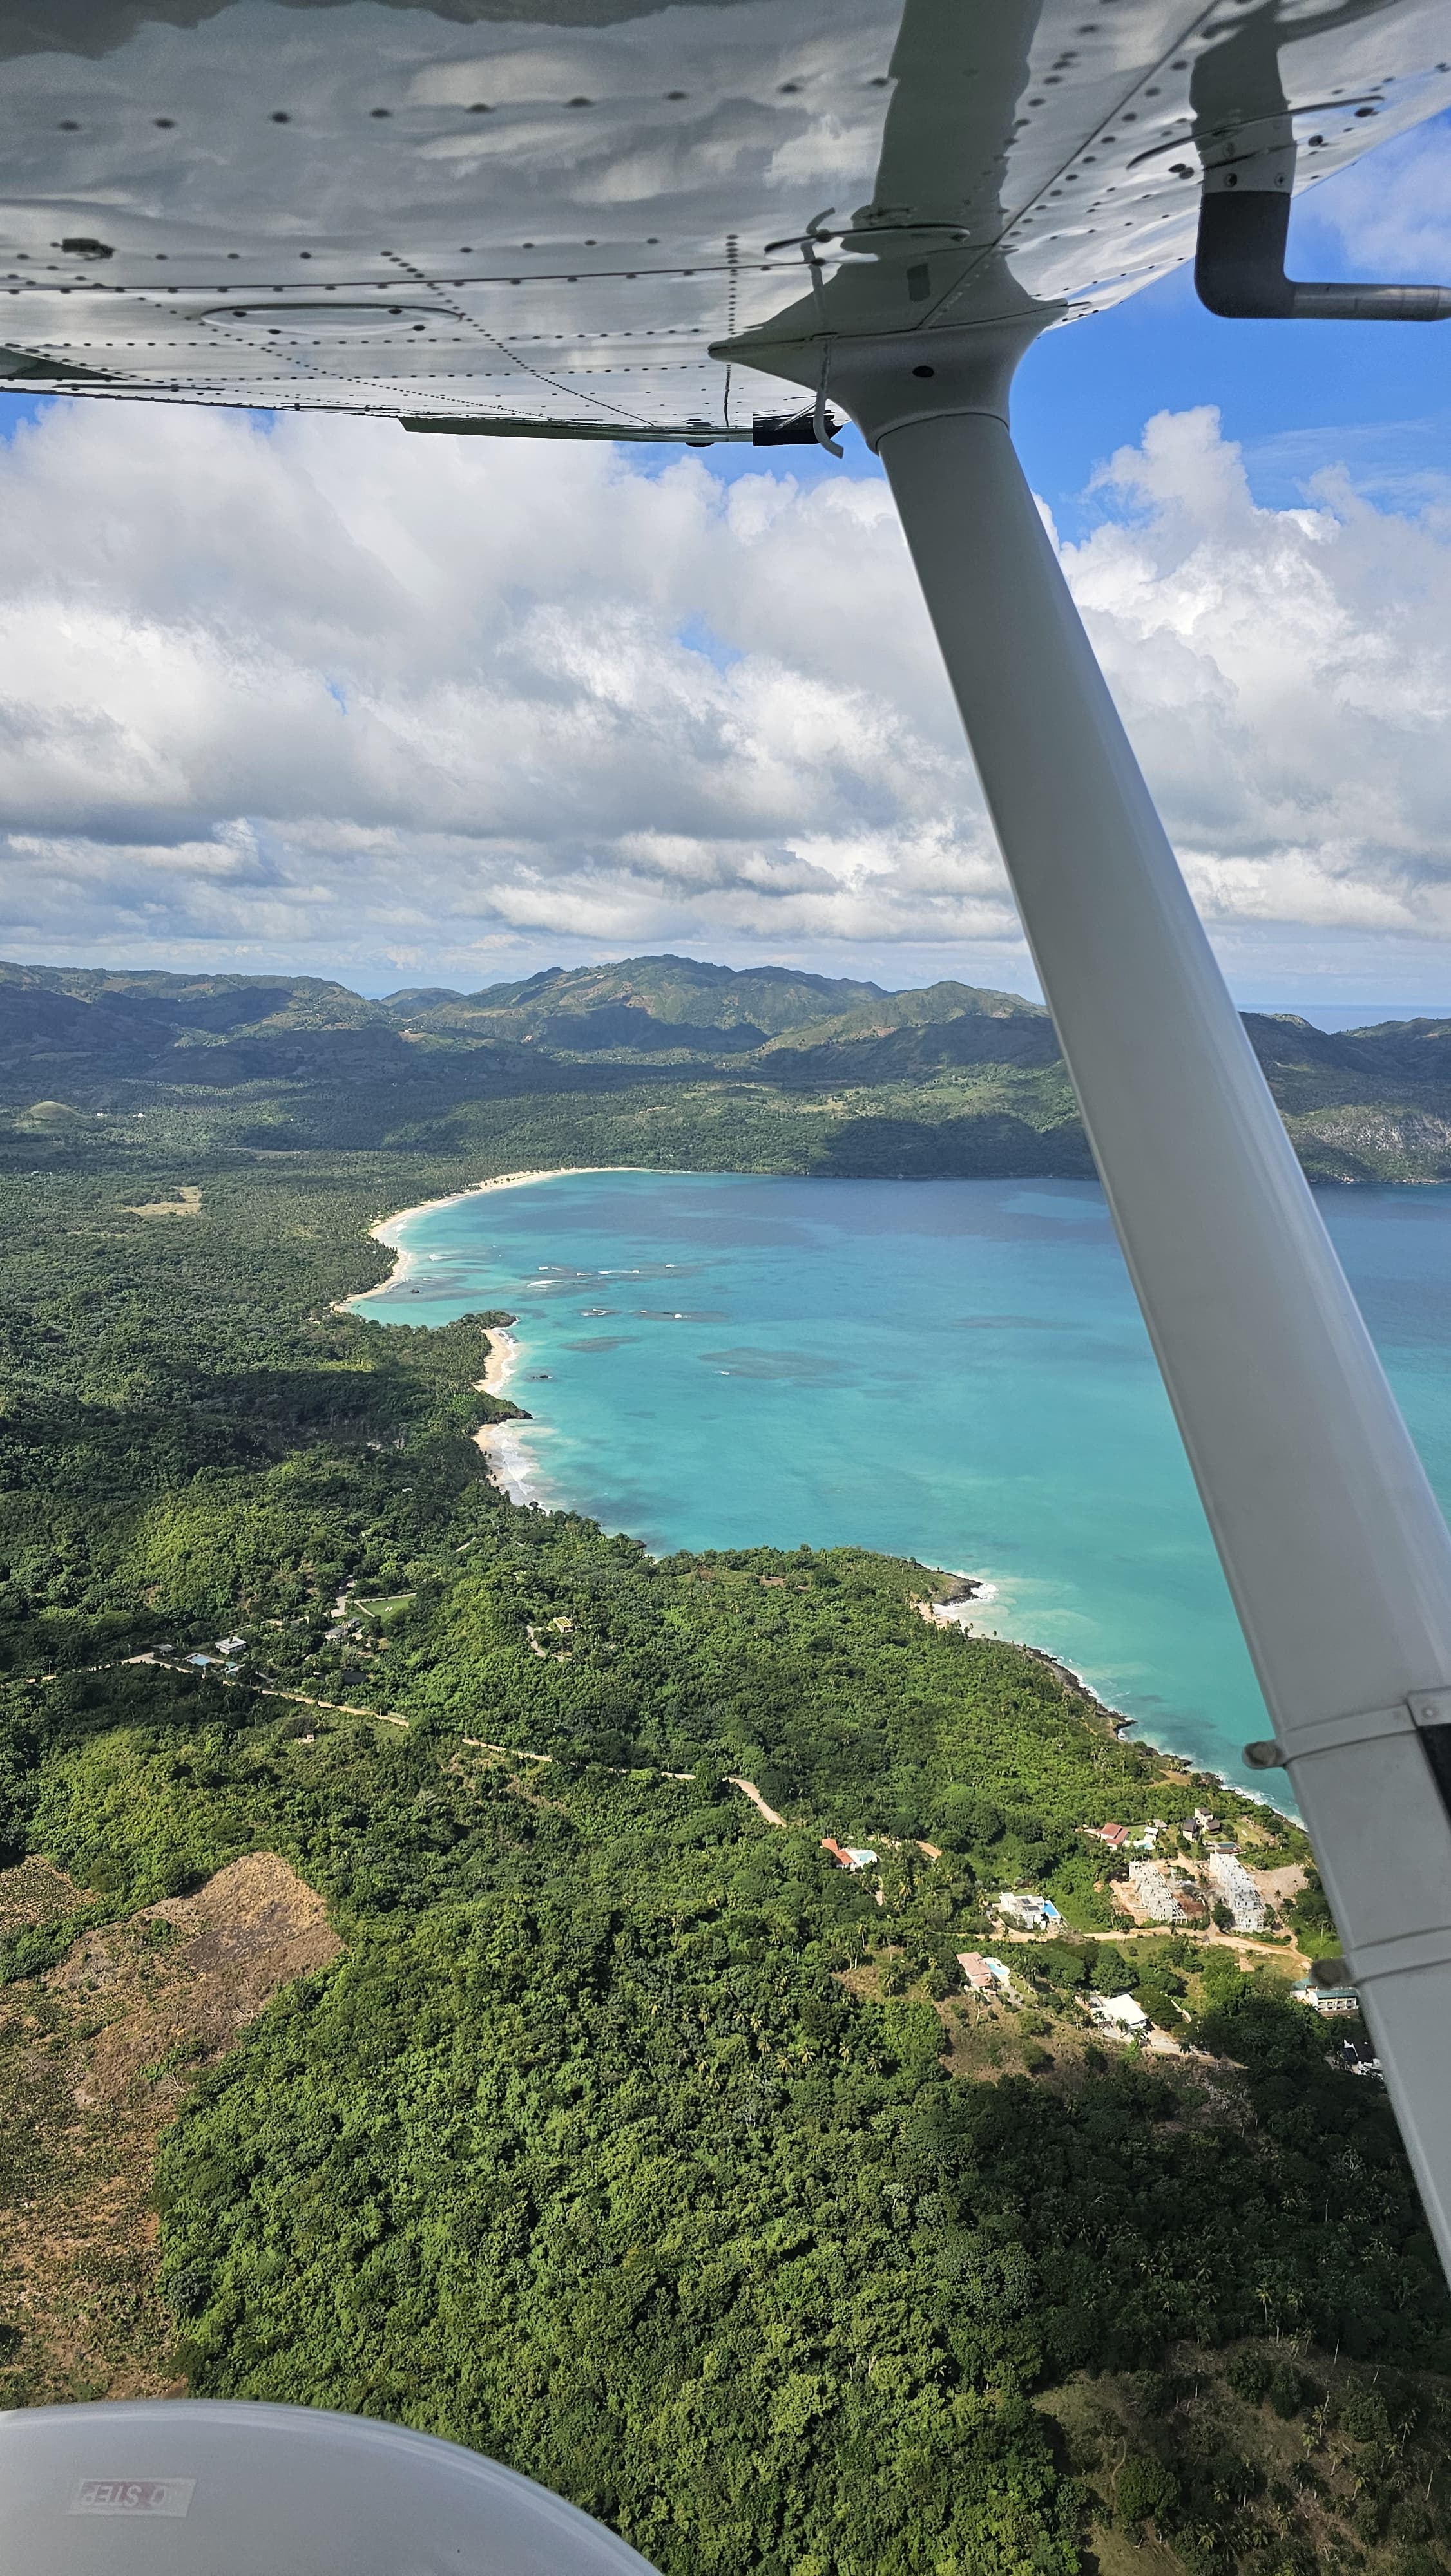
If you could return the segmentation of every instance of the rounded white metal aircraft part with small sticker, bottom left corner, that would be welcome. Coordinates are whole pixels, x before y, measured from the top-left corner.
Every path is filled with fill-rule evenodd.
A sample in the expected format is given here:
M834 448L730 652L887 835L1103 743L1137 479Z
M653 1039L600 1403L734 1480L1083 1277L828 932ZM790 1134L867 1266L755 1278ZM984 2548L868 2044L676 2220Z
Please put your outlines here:
M562 2496L430 2434L312 2406L0 2416L15 2576L649 2576Z

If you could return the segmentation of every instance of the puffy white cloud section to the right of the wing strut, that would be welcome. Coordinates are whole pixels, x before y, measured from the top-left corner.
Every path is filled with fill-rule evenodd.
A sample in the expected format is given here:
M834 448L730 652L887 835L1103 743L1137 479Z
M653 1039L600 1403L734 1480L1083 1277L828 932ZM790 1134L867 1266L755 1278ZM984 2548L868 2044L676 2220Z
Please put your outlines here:
M1451 520L1258 507L1209 410L1103 484L1064 562L1206 917L1446 938Z

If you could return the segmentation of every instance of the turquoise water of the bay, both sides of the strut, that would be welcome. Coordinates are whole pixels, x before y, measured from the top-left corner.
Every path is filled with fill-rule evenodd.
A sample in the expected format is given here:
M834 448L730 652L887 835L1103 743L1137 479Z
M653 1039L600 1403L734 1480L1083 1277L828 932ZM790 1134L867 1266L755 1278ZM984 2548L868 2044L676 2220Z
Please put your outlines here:
M1320 1206L1446 1504L1451 1188ZM1253 1777L1265 1710L1095 1182L580 1172L384 1234L405 1262L361 1314L518 1314L515 1489L657 1551L985 1577L979 1628Z

